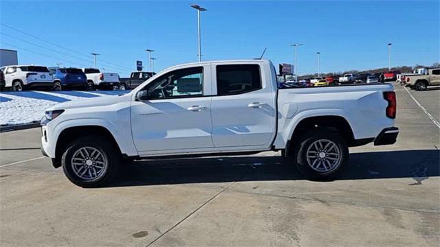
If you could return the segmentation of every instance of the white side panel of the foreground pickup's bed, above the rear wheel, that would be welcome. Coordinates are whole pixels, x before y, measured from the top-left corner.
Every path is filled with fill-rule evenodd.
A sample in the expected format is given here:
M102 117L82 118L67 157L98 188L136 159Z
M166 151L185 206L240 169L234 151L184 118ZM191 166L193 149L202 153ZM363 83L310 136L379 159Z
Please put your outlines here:
M292 136L301 119L333 115L349 119L355 139L368 139L393 119L385 117L388 102L383 92L393 91L392 84L349 84L278 90L278 133L275 147L282 147ZM292 137L294 138L294 137Z

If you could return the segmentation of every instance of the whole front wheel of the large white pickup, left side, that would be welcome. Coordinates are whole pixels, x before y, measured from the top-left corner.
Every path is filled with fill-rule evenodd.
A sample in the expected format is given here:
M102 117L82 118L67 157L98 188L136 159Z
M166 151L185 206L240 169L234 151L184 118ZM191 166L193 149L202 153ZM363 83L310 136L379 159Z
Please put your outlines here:
M85 148L86 150L84 151ZM96 160L94 160L94 158L91 157L84 157L87 158L87 165L74 165L72 163L72 158L74 155L79 155L78 152L81 152L81 149L83 150L83 153L80 154L80 156L84 157L89 155L91 157L96 157L96 154L92 152L92 150L95 149L98 150L100 154L102 154L102 158L98 157L96 158ZM87 149L89 151L87 151ZM63 156L61 158L61 165L63 166L64 174L72 183L80 187L102 187L112 180L118 169L120 154L115 149L116 148L114 147L114 145L112 145L111 141L103 139L102 137L80 137L76 141L70 143L63 153ZM87 152L87 154L84 154L84 152ZM78 159L75 159L75 161L81 163L81 161ZM97 174L96 171L98 170L98 165L96 165L93 161L96 161L96 164L100 162L105 163L106 165L102 165L102 167L104 168L102 168L101 172L98 172L100 174L96 175L96 178L81 178L78 173L83 173L85 170L87 170L86 173L89 174L90 177L92 177L93 174ZM94 167L94 165L96 165L96 167ZM76 171L74 167L76 167ZM81 169L81 167L83 167L83 169ZM87 174L85 174L85 176L87 176Z

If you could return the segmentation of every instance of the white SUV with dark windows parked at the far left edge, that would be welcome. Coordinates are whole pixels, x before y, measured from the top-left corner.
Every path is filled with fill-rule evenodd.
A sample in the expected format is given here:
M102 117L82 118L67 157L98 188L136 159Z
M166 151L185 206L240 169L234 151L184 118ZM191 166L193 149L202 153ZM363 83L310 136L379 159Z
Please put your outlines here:
M12 65L1 67L5 73L5 87L12 87L12 91L25 89L48 88L52 89L52 75L44 66Z

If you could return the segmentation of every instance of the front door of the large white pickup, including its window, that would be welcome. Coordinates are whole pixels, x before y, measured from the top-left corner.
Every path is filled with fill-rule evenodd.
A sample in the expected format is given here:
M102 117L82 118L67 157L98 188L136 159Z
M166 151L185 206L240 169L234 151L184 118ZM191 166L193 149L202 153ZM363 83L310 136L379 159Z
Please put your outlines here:
M141 155L213 147L206 69L210 65L165 73L145 86L147 100L132 103L133 141Z

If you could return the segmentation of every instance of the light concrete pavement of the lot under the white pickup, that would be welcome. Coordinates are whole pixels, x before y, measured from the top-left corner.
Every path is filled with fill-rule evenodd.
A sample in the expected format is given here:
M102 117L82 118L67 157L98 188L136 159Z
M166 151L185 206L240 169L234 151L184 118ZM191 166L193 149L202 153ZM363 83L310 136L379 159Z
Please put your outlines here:
M314 182L279 154L138 162L82 189L39 129L0 134L0 246L438 246L440 90L396 86L395 145ZM429 117L428 114L431 116Z

